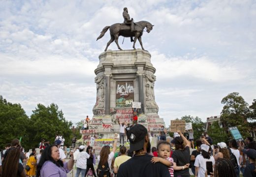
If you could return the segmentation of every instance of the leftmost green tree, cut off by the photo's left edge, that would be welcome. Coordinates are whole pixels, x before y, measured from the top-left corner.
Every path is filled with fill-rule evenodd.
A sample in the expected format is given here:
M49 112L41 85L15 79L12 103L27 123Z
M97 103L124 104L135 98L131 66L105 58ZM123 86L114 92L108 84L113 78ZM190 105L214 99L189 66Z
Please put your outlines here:
M14 138L22 137L21 145L28 149L29 118L20 104L12 104L0 95L0 148Z

